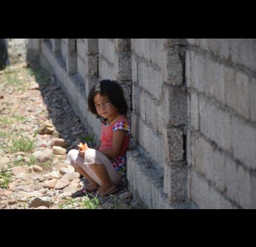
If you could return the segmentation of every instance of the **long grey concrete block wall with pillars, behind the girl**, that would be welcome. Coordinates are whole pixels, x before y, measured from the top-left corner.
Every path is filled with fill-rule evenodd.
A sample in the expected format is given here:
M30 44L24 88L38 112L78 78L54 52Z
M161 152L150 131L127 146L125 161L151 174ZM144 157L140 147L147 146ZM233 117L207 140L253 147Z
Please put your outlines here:
M255 39L29 42L97 140L89 89L101 79L122 84L127 181L144 207L256 208Z

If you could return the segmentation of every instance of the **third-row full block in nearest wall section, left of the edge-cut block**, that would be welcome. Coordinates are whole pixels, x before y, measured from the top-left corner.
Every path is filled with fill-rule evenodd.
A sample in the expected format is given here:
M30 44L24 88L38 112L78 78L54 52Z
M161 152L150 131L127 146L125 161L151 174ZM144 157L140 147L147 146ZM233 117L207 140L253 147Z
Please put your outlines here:
M225 151L231 151L231 116L200 96L200 130Z

